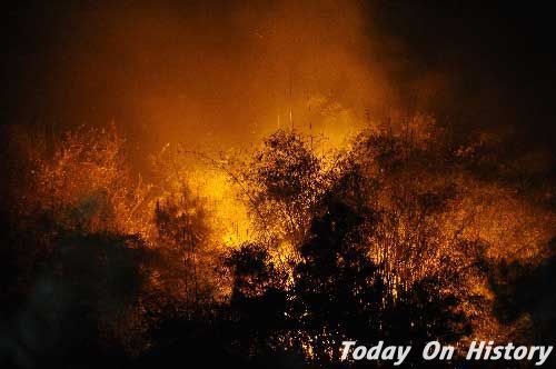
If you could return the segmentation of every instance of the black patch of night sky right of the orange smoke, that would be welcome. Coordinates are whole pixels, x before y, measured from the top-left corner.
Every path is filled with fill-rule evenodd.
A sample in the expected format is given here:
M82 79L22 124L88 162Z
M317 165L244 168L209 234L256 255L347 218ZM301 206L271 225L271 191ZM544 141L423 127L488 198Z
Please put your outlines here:
M444 110L460 109L478 124L516 124L554 141L554 19L549 6L471 1L384 1L375 23L403 42L398 83L441 73ZM443 99L438 99L443 100ZM484 117L483 117L484 116Z

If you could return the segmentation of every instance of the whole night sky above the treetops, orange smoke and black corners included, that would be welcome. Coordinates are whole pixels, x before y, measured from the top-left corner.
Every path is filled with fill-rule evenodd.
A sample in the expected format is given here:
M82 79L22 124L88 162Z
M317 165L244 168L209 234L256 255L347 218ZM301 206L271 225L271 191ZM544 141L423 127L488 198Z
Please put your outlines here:
M148 148L175 137L241 142L259 127L275 128L288 109L309 119L307 101L324 96L327 109L335 101L355 116L367 109L379 117L393 106L420 109L464 130L515 130L524 146L556 143L548 4L167 0L3 7L2 123L113 120Z

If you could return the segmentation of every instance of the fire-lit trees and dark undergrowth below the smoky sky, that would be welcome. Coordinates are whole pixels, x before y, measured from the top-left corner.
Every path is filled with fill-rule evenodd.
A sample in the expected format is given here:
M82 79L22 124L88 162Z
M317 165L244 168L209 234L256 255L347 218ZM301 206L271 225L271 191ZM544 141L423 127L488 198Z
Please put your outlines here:
M499 137L399 119L341 149L167 146L151 181L116 128L10 128L3 359L149 366L206 340L211 365L350 367L344 340L553 339L549 183Z

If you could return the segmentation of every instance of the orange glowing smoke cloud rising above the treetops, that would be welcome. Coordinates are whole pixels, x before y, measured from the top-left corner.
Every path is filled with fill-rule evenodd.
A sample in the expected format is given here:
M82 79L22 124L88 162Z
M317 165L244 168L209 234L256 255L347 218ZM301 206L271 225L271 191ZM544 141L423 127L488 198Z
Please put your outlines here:
M147 150L254 142L291 123L341 136L388 96L367 12L357 1L60 6L38 116L113 120Z

